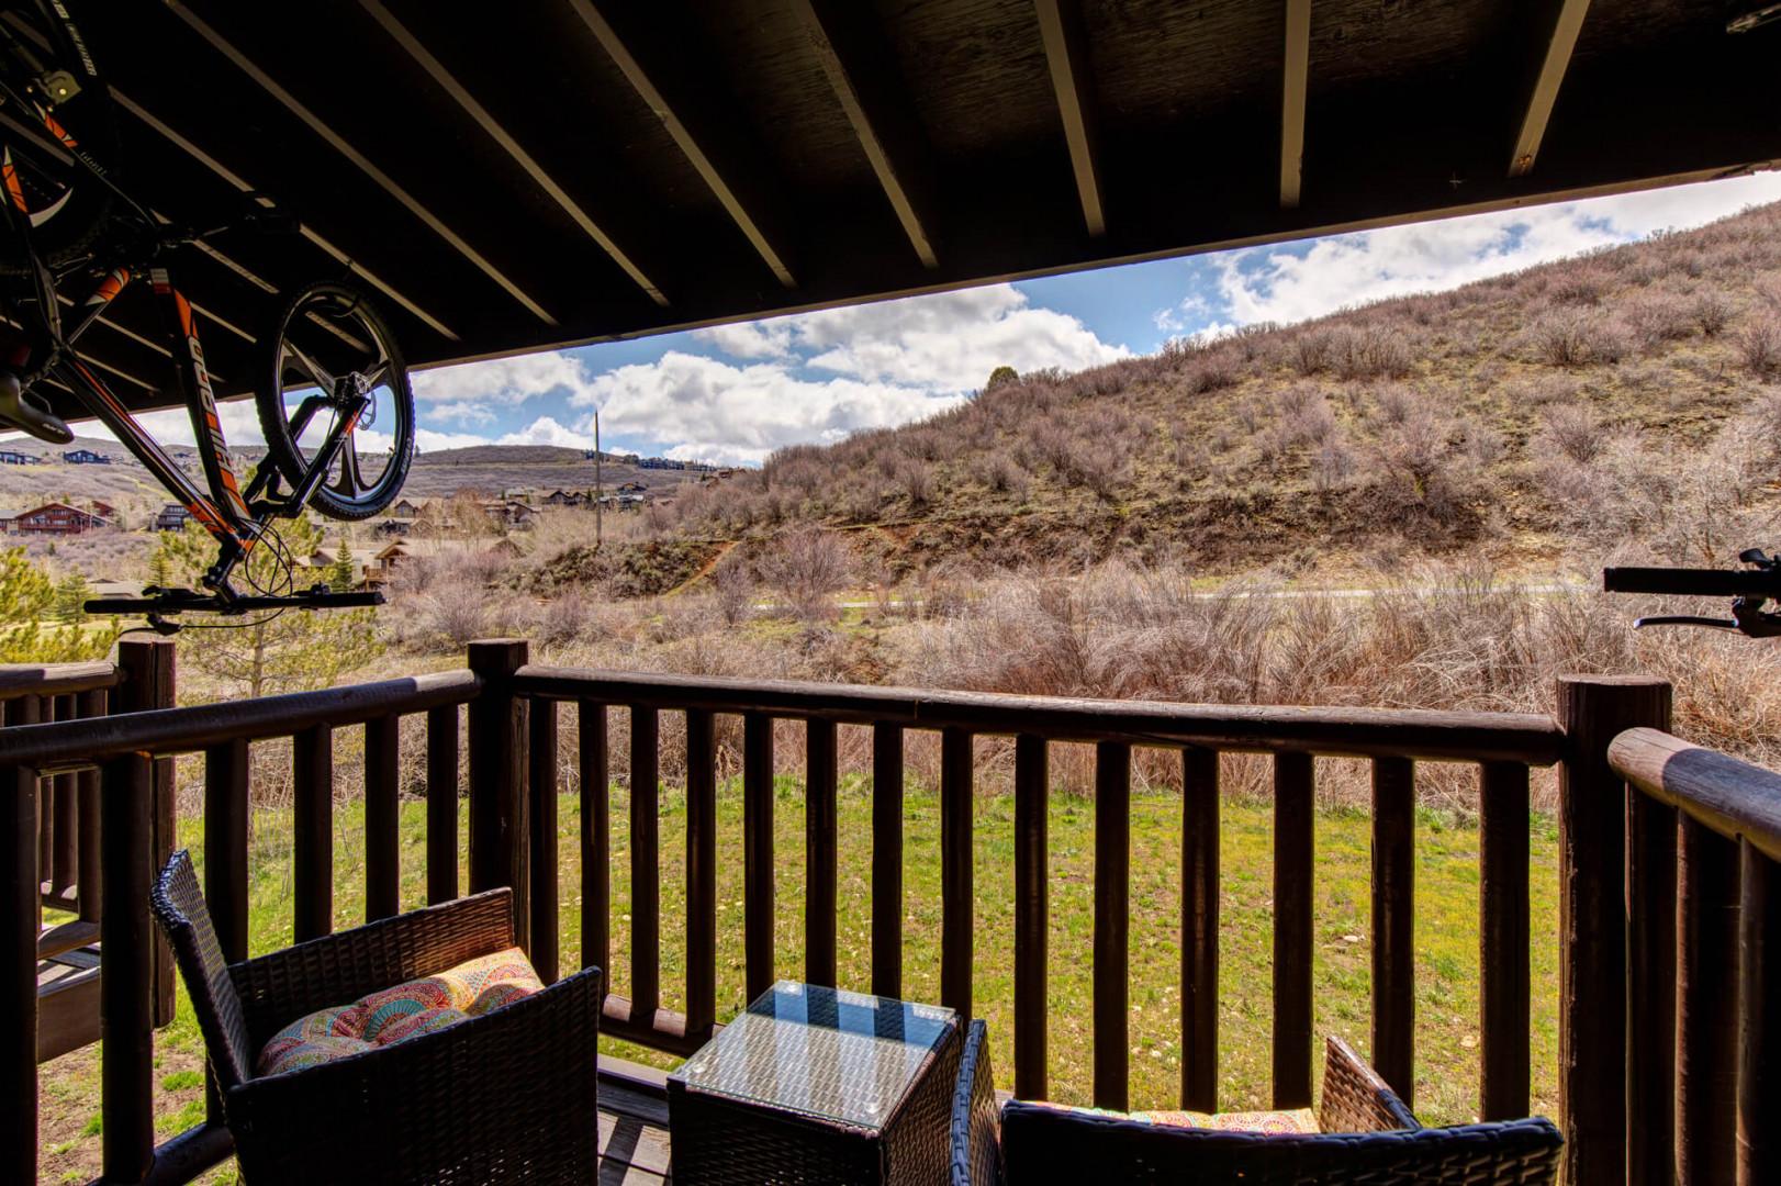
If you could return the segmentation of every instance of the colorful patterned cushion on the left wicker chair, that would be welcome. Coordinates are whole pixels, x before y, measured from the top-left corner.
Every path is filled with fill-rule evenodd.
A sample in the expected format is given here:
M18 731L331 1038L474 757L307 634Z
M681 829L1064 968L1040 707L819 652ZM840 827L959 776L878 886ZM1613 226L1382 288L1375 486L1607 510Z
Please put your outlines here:
M363 1054L456 1026L543 988L525 953L495 951L458 967L317 1010L280 1029L260 1051L258 1070L276 1076Z

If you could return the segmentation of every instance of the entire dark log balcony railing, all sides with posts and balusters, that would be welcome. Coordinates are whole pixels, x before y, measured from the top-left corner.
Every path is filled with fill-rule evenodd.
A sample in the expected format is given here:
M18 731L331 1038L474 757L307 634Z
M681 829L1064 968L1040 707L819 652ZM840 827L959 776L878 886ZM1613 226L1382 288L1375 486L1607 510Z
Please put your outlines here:
M468 889L515 889L516 926L545 978L559 972L557 898L559 716L573 705L579 778L581 960L629 967L629 995L609 994L604 1029L670 1052L702 1044L718 1017L716 990L716 721L741 719L744 978L755 992L775 976L837 979L837 727L871 730L871 937L862 988L903 988L903 760L912 730L939 734L940 750L940 997L971 1011L974 739L1012 737L1013 750L1013 1083L1019 1095L1047 1090L1047 796L1053 743L1095 746L1095 862L1092 1067L1094 1099L1127 1102L1127 976L1134 933L1129 915L1127 842L1133 751L1179 755L1181 828L1181 1101L1218 1106L1218 755L1272 759L1275 812L1273 1097L1309 1102L1313 1058L1313 915L1316 878L1313 757L1371 762L1371 1056L1405 1097L1414 1081L1414 787L1419 762L1476 768L1480 787L1480 1115L1507 1118L1530 1108L1530 919L1528 768L1560 766L1560 1124L1571 1182L1622 1181L1640 1149L1663 1147L1663 1117L1681 1118L1674 1150L1713 1174L1726 1127L1713 1113L1728 1084L1744 1092L1745 1115L1772 1108L1774 1029L1763 1028L1763 994L1776 951L1772 906L1777 853L1776 791L1781 778L1699 757L1669 757L1662 769L1635 760L1653 744L1626 730L1667 725L1667 686L1651 680L1574 678L1558 687L1558 719L1525 714L1453 714L1371 709L1284 709L1172 705L1151 702L846 687L755 680L687 678L527 664L518 641L476 643L468 670L385 680L319 693L224 705L162 709L96 721L36 723L0 732L0 789L12 803L0 816L9 860L36 867L34 789L43 776L98 773L107 967L103 1141L107 1181L189 1181L228 1152L216 1124L153 1145L150 1029L153 940L146 890L155 849L155 762L176 753L205 759L205 881L224 951L246 953L249 748L290 737L294 796L294 896L299 938L333 926L333 734L365 727L365 910L399 908L397 787L404 714L426 716L427 899L458 892L459 737L468 750ZM459 707L468 705L463 732ZM613 951L609 712L629 716L630 942ZM686 725L686 985L684 1013L663 1008L659 785L664 714ZM805 965L777 967L773 956L775 721L805 730ZM670 721L671 723L671 721ZM1619 737L1619 741L1615 741ZM1672 739L1662 739L1671 744ZM1614 762L1610 766L1610 744ZM1644 744L1646 750L1637 746ZM1717 759L1729 762L1729 759ZM1640 764L1644 762L1644 764ZM1703 773L1704 771L1704 773ZM1685 778L1688 775L1688 778ZM1692 778L1692 782L1690 782ZM1628 796L1626 780L1639 787ZM1681 839L1662 826L1679 805ZM1696 832L1690 832L1694 828ZM1665 841L1669 835L1669 842ZM1729 841L1738 835L1742 841ZM1713 844L1719 844L1715 849ZM1742 874L1728 890L1726 846L1742 844ZM1676 855L1683 857L1678 867ZM1667 869L1667 873L1665 873ZM1665 906L1667 885L1681 906ZM1728 898L1728 892L1731 898ZM1736 898L1742 894L1742 898ZM1631 901L1631 908L1628 908ZM1742 901L1736 912L1728 906ZM1672 914L1665 914L1665 910ZM9 883L0 938L9 962L0 999L0 1063L14 1099L0 1133L0 1174L36 1174L36 999L37 881ZM1728 922L1736 917L1738 922ZM1681 919L1679 935L1672 922ZM1744 956L1733 954L1742 928ZM1669 937L1669 938L1665 938ZM1665 946L1669 944L1669 946ZM1751 954L1756 953L1756 954ZM1665 962L1669 960L1669 962ZM1674 1001L1667 969L1681 967ZM1738 967L1740 988L1726 969ZM1669 1011L1665 1011L1669 1010ZM1676 1019L1674 1049L1660 1040L1628 1042L1663 1017ZM1726 1019L1742 1017L1742 1047ZM1742 1074L1728 1072L1742 1052ZM1756 1054L1753 1054L1756 1051ZM27 1052L30 1058L27 1058ZM1674 1076L1671 1074L1674 1067ZM1731 1077L1728 1077L1731 1074ZM1767 1076L1767 1077L1765 1077ZM1681 1083L1672 1111L1663 1083ZM1749 1113L1758 1108L1758 1113ZM1635 1124L1628 1124L1633 1120ZM1640 1129L1651 1129L1644 1131ZM1696 1125L1696 1127L1690 1127ZM1712 1134L1712 1138L1710 1138ZM1628 1141L1633 1145L1628 1152ZM1747 1125L1740 1149L1751 1165L1769 1156L1765 1134ZM1712 1145L1712 1150L1708 1149ZM1699 1147L1699 1149L1697 1149ZM1763 1168L1761 1174L1772 1174ZM1761 1177L1749 1177L1758 1181ZM1660 1175L1662 1177L1662 1175ZM1649 1181L1649 1179L1642 1179Z

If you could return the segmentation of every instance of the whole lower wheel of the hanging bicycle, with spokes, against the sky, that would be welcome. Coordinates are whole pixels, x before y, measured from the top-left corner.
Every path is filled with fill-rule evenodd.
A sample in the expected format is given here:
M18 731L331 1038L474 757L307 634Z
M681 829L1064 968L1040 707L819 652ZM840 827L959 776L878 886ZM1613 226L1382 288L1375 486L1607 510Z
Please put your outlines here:
M267 463L299 488L358 395L346 443L310 497L329 518L369 518L390 506L415 458L415 394L388 324L353 285L301 288L262 338L272 356L255 390Z

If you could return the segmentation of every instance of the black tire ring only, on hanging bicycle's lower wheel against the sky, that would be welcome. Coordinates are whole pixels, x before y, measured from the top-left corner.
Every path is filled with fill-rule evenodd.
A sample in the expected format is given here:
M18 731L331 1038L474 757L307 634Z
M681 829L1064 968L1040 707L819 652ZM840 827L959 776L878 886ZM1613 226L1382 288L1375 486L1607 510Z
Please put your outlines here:
M394 394L394 411L395 411L395 433L394 445L395 456L390 458L390 465L385 468L383 477L378 479L381 497L374 502L346 502L338 499L331 488L326 484L317 486L315 493L310 497L310 506L326 515L328 518L358 522L378 515L403 491L403 484L408 481L408 467L415 459L415 390L408 381L408 363L403 358L401 345L395 335L390 333L390 322L383 319L378 306L365 296L365 290L358 285L342 283L337 280L322 280L303 288L297 288L285 301L283 308L272 319L269 331L262 340L271 344L271 358L265 361L260 383L255 385L255 406L260 413L260 433L265 436L267 458L278 467L280 475L289 486L297 484L297 477L303 474L303 452L297 449L296 440L290 436L290 422L285 418L285 392L283 392L283 340L285 326L297 313L306 301L315 296L338 296L347 297L354 303L354 312L365 317L372 326L372 333L383 342L383 347L390 360L390 392Z

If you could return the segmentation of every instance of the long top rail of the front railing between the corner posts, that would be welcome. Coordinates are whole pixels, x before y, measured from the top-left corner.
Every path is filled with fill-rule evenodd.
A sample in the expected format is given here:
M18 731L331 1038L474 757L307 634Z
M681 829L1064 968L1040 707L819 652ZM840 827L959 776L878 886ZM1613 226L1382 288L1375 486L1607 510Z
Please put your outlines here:
M527 664L513 678L522 696L595 700L654 709L768 712L908 728L960 727L980 734L1035 734L1051 741L1127 741L1213 750L1409 757L1549 766L1564 734L1526 712L1423 709L1297 709L1275 705L1081 700L1003 693L643 675Z

